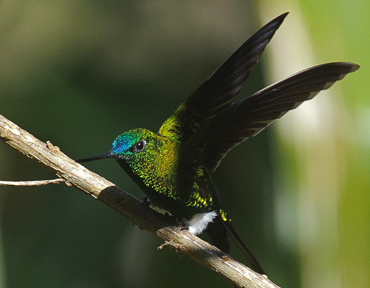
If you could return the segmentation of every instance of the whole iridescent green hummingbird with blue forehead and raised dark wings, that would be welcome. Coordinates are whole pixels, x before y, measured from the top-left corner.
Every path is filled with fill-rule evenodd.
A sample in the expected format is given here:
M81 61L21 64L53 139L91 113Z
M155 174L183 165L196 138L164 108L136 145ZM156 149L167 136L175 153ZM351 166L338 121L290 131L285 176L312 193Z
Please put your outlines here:
M254 33L165 120L157 134L130 130L115 139L109 152L77 160L116 159L152 208L170 213L182 229L195 235L206 230L225 253L229 253L229 235L260 274L265 273L226 214L210 172L233 147L359 68L348 62L311 67L235 102L287 14Z

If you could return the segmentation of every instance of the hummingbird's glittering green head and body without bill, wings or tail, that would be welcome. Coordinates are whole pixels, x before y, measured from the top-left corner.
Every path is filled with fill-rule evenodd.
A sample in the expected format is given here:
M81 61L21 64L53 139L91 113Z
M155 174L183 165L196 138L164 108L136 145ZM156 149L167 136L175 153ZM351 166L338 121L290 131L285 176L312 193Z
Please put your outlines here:
M212 195L207 196L215 190L208 172L180 158L179 147L167 137L134 129L118 136L111 152L155 205L178 217L214 209Z

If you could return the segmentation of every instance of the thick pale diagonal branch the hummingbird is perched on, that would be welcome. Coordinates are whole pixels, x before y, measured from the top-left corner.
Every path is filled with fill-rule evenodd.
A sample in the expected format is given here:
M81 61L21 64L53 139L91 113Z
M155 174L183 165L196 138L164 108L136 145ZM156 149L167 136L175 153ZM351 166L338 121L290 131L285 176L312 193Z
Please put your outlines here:
M77 188L105 203L142 230L163 239L165 241L163 245L168 245L178 254L216 271L232 281L235 286L279 288L266 276L254 273L190 232L180 231L172 218L145 207L131 194L67 157L49 141L46 143L40 141L2 115L0 115L0 139L58 177L65 179L68 187Z

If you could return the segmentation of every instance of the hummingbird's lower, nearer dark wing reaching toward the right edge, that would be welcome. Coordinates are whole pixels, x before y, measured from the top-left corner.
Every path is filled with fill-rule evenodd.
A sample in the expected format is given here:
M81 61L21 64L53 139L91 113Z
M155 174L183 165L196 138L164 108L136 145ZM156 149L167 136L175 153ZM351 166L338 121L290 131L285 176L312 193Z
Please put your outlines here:
M359 67L348 62L311 67L235 103L214 117L194 138L196 146L204 149L202 165L214 171L233 147Z

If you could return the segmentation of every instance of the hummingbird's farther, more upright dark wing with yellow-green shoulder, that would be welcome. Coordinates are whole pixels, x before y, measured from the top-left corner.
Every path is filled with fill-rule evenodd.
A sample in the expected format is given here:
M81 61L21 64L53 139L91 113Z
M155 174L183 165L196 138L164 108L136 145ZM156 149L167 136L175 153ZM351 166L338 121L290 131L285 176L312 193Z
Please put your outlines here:
M158 134L184 142L210 118L230 107L287 14L276 17L240 46L163 123Z

